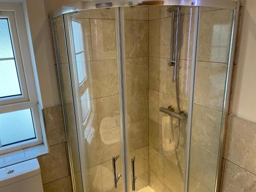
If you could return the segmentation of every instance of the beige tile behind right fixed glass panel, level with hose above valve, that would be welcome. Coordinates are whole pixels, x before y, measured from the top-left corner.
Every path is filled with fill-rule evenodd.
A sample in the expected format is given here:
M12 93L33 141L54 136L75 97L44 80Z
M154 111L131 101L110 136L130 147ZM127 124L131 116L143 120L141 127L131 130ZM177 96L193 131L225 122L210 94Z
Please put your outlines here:
M197 62L194 102L222 111L227 66L220 63Z

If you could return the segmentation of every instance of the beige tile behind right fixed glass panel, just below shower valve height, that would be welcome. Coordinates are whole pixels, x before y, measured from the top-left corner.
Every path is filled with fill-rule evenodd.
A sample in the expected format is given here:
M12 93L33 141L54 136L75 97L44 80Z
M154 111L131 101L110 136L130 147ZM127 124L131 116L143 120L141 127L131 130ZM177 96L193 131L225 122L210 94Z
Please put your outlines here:
M218 154L221 133L221 112L194 104L192 141Z

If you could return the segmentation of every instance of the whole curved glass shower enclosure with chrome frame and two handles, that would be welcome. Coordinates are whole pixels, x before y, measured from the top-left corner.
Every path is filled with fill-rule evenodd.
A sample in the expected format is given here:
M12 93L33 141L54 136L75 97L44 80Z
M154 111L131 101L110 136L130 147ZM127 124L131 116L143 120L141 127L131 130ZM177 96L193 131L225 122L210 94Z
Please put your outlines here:
M220 190L238 8L82 1L52 13L74 191Z

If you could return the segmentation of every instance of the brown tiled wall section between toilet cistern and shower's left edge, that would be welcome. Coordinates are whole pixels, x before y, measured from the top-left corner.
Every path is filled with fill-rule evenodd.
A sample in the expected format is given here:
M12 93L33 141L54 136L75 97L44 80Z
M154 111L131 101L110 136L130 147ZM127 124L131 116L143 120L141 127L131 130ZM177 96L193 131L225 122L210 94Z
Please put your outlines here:
M61 106L43 110L49 154L38 157L45 192L71 192L65 125Z

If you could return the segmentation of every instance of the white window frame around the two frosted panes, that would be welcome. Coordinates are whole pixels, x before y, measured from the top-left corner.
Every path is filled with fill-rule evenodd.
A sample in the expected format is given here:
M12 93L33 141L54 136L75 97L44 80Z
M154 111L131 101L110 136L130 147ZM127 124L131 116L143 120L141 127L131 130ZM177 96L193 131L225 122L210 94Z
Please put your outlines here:
M14 58L22 96L0 98L0 114L31 109L35 138L0 147L0 155L42 143L32 62L29 52L25 17L21 4L0 3L0 18L8 18Z

